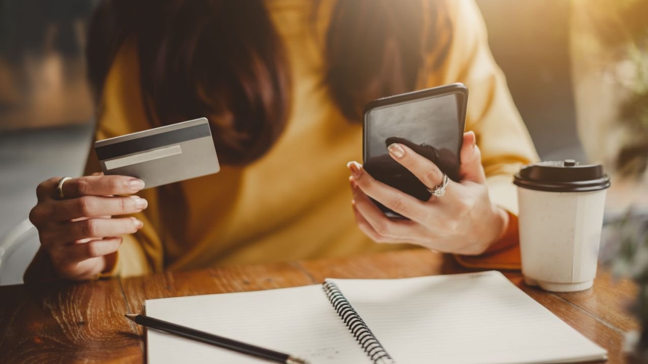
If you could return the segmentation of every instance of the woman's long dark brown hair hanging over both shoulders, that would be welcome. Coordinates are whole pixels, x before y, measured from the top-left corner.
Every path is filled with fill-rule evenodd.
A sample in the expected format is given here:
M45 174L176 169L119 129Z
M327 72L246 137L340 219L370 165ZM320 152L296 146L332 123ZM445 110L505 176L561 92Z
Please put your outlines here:
M424 57L435 49L437 61L445 57L448 34L443 1L338 1L325 50L332 100L359 120L369 100L412 91ZM235 165L264 155L281 135L290 65L263 1L103 0L87 47L97 99L129 37L137 41L143 100L154 122L208 117L219 159Z

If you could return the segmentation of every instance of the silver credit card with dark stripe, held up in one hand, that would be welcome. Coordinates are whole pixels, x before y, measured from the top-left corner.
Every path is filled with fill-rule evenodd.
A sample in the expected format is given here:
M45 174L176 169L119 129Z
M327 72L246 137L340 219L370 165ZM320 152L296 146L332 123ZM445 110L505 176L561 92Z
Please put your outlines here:
M142 179L146 188L220 170L205 118L95 142L104 174Z

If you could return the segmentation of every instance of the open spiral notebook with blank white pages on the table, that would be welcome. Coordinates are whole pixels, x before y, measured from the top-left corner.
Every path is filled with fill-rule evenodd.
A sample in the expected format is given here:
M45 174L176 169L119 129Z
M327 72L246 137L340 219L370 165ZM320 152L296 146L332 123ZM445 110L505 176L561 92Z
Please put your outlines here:
M269 291L147 300L146 315L310 363L573 363L598 347L498 271L327 279ZM264 363L147 330L149 363Z

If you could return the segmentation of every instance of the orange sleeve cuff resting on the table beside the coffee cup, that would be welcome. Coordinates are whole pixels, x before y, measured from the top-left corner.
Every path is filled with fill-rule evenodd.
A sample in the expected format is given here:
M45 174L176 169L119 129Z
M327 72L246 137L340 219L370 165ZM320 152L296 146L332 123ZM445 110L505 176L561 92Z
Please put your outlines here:
M454 255L459 264L476 269L520 269L518 217L511 212L503 236L480 255Z

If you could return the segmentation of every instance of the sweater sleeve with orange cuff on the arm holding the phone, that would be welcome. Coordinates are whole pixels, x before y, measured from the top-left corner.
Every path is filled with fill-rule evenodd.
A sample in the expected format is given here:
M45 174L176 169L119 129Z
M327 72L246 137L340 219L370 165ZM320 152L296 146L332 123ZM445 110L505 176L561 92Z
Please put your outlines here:
M517 194L513 174L538 160L502 70L488 45L485 23L474 0L446 1L450 14L450 47L445 60L424 74L424 87L462 82L469 89L466 130L477 136L491 201L509 212L509 227L487 254L516 245ZM426 60L432 70L438 52ZM515 264L514 264L515 265Z

